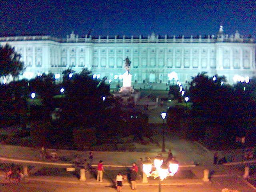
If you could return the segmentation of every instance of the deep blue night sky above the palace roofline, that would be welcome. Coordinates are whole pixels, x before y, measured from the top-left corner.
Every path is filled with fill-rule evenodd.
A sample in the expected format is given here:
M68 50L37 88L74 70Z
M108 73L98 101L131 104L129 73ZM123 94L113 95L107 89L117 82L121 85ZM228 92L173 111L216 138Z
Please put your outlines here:
M256 37L255 0L3 0L0 36L46 34L164 36L226 34Z

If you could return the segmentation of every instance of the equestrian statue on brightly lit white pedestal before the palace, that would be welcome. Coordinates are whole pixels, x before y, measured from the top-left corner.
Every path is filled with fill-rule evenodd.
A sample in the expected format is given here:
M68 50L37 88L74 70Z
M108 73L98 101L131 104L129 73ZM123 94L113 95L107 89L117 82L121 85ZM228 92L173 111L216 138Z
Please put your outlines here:
M126 70L126 72L123 74L123 86L120 88L119 92L114 93L114 96L121 97L124 103L127 103L128 99L132 97L134 104L136 104L140 93L132 88L132 74L130 73L130 66L132 62L128 57L126 57L126 59L123 61L125 61L124 68Z

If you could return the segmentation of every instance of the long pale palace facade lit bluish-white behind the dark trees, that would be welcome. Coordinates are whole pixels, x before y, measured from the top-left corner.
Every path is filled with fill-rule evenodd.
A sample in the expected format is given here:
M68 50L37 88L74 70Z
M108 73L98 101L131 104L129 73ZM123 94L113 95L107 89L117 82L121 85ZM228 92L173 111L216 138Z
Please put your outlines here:
M133 84L154 84L154 88L175 80L189 82L191 76L202 71L208 72L209 76L225 75L230 84L239 77L256 75L254 40L243 38L238 32L228 36L222 26L218 34L204 38L169 38L154 33L146 38L79 37L72 32L64 39L51 36L0 37L0 44L6 43L22 55L26 71L20 78L34 78L43 72L52 72L58 78L68 67L76 72L88 68L94 77L107 76L114 86L118 81L122 82L126 57L132 61Z

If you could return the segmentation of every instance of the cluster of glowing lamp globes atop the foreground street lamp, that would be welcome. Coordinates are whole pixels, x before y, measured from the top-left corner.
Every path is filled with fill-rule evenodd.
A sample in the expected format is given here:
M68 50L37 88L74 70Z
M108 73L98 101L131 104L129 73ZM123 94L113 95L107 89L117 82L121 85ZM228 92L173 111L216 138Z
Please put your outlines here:
M152 161L147 158L147 160L143 163L142 168L147 177L159 177L162 181L168 176L174 176L174 174L178 171L179 164L174 159L164 162L163 158L156 157L154 159L154 166L152 165Z

